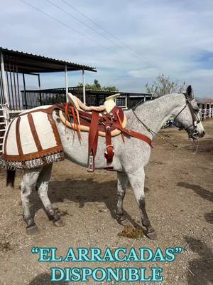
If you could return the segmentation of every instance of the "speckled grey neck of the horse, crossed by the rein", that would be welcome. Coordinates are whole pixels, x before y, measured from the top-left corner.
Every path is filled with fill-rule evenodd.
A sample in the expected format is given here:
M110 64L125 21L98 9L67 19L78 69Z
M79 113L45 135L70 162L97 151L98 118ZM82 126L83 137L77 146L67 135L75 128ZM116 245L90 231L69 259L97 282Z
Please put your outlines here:
M147 103L138 105L135 110L140 120L155 133L165 125L167 120L174 118L184 104L184 95L168 94ZM129 113L129 119L133 128L144 132L143 125L138 121L133 111Z

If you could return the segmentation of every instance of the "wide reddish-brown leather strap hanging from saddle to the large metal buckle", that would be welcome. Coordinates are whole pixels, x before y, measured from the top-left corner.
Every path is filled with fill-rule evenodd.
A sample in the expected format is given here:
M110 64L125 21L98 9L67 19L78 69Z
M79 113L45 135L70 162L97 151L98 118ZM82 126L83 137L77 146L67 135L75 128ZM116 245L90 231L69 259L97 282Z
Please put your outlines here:
M92 154L94 157L97 152L97 142L99 138L98 124L99 124L99 113L97 111L92 111L92 120L91 120L91 125L89 128L88 153L89 155Z

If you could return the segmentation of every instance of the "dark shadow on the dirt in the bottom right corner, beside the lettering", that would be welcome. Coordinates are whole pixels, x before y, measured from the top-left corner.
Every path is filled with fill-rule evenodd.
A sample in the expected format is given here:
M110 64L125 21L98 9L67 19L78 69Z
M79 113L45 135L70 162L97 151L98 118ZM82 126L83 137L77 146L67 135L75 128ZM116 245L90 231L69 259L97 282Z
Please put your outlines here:
M190 250L199 254L197 259L189 261L187 264L190 271L187 274L187 284L189 285L209 285L213 284L213 254L212 249L207 247L200 239L185 237Z

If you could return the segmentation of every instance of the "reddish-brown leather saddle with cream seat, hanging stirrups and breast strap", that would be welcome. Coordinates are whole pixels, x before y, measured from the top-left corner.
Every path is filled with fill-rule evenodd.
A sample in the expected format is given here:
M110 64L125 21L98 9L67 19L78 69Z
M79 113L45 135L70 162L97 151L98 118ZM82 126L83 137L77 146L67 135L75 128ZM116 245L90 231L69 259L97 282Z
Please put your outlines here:
M122 108L117 107L115 98L119 94L114 94L106 98L104 105L87 106L82 101L68 93L70 103L57 104L56 108L60 110L60 119L68 128L77 132L78 138L82 140L81 131L89 132L88 142L88 172L94 172L94 158L97 153L97 145L99 135L106 138L106 150L104 157L107 160L107 170L113 170L110 166L114 157L114 147L111 143L111 137L116 135L129 135L138 138L151 145L151 139L136 133L132 130L127 130L126 115Z

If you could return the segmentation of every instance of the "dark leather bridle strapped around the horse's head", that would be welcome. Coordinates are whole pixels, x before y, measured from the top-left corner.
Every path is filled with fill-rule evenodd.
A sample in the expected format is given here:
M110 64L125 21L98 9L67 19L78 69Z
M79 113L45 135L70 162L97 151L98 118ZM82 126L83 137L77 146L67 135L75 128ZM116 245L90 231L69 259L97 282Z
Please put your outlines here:
M175 116L174 118L174 125L175 124L175 121L177 120L178 116L182 113L183 110L185 110L185 108L189 108L190 109L190 113L192 115L192 125L190 126L186 126L186 125L177 125L178 129L179 130L186 130L187 133L189 133L189 137L190 138L195 138L195 136L197 136L197 124L200 123L200 119L198 118L197 114L195 113L195 111L197 110L196 108L193 108L192 106L192 100L194 98L192 98L192 100L190 100L189 98L187 98L187 95L186 93L183 93L185 95L185 101L186 101L186 104L185 106L180 110L180 112L178 113L178 115ZM192 128L192 129L191 129Z

